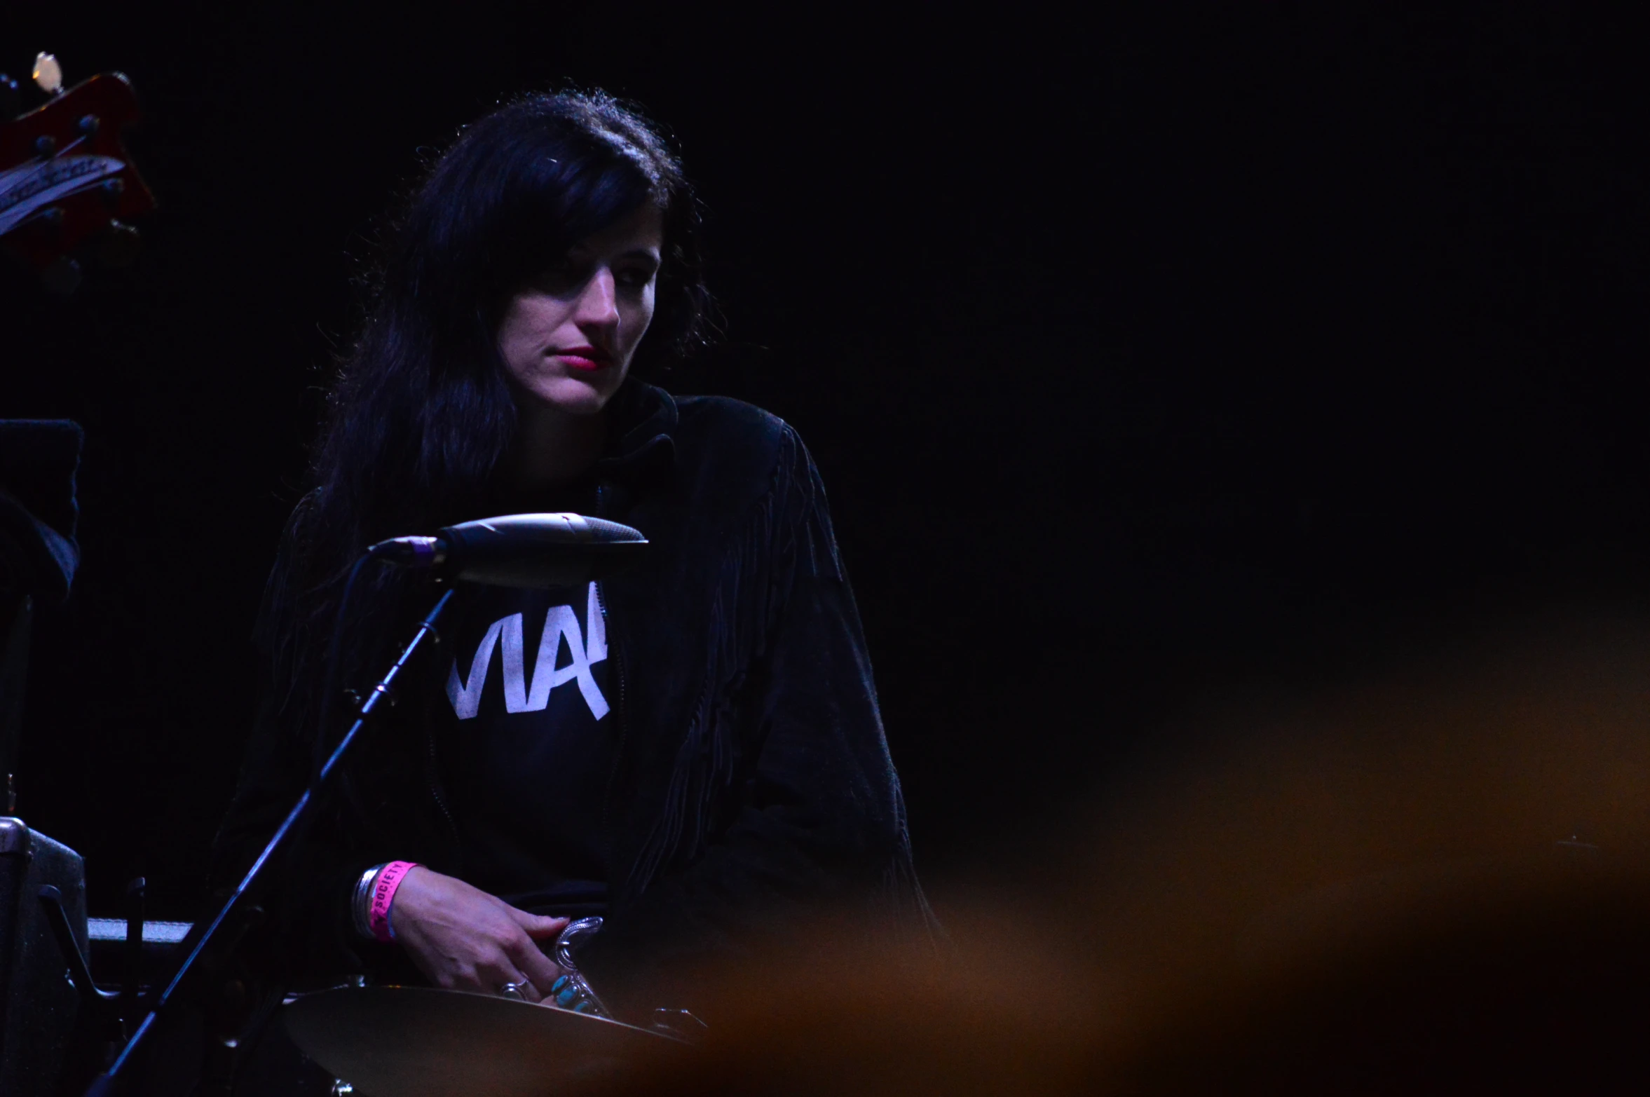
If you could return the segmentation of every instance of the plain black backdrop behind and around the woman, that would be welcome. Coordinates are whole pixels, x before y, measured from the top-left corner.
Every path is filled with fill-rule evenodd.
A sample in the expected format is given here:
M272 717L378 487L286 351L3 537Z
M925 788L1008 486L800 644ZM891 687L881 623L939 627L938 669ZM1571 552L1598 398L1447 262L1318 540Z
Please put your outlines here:
M1643 614L1643 43L1561 5L1064 21L624 5L7 5L0 69L120 69L162 208L0 414L81 421L20 815L190 917L252 614L373 219L500 94L640 101L711 210L676 391L832 490L931 881L1000 871L1254 681L1553 604ZM624 12L624 13L617 13Z

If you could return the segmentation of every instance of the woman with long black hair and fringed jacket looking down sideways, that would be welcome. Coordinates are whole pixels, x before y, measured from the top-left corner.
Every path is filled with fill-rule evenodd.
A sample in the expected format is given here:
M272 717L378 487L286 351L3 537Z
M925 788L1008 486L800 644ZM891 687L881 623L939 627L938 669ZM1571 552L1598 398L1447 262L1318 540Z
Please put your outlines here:
M322 653L368 544L546 510L652 544L587 591L460 589L439 655L351 759L280 891L302 968L411 965L538 1001L559 977L543 945L601 914L579 967L624 1013L688 1005L696 972L827 907L926 932L807 450L756 407L634 376L698 333L696 228L673 153L602 94L502 107L412 196L271 577L271 699L219 876L251 861L327 746ZM371 683L432 597L363 572L338 680Z

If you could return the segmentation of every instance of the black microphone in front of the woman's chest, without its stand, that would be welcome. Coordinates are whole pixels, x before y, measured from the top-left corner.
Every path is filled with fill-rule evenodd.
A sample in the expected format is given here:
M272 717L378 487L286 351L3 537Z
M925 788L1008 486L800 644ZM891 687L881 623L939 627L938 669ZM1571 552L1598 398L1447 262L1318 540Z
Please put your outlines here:
M502 515L446 526L432 538L391 538L373 559L432 569L442 579L495 587L578 587L625 567L647 549L639 530L584 515Z

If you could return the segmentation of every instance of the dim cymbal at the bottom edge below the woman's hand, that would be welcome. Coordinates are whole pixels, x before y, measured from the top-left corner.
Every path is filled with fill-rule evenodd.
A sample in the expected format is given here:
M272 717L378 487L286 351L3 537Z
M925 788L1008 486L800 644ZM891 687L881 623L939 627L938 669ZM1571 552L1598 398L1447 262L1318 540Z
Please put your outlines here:
M541 1097L686 1046L571 1010L426 986L325 990L280 1016L310 1059L368 1097Z

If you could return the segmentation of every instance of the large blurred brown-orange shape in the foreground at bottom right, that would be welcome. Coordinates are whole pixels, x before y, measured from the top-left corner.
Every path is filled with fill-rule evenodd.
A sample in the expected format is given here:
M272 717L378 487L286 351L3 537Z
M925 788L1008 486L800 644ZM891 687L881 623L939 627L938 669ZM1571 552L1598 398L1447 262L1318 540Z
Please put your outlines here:
M1059 835L1040 891L939 891L952 960L833 944L845 916L615 1092L1645 1092L1643 622L1195 719L1233 734Z

